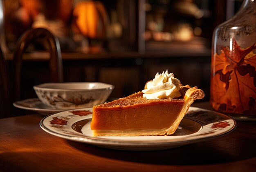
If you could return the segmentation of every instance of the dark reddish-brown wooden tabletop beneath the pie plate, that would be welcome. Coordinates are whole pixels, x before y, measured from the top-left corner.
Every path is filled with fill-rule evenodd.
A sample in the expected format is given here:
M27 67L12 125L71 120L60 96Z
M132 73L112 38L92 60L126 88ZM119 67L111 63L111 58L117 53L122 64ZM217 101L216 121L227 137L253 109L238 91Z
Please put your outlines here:
M198 103L210 109L209 102ZM238 121L220 138L179 148L132 152L68 141L43 131L42 115L0 119L0 171L254 171L256 122Z

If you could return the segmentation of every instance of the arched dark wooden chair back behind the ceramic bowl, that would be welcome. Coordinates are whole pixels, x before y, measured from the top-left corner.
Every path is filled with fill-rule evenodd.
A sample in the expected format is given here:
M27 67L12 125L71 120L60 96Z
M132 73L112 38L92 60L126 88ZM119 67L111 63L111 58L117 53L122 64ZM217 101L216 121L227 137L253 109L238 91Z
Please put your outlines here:
M14 95L13 101L20 100L20 78L22 69L22 54L25 53L29 44L35 42L38 39L43 39L49 45L49 69L50 69L50 81L51 82L63 82L63 67L61 48L59 41L51 32L43 28L29 29L23 33L18 40L16 51L13 55L14 61Z

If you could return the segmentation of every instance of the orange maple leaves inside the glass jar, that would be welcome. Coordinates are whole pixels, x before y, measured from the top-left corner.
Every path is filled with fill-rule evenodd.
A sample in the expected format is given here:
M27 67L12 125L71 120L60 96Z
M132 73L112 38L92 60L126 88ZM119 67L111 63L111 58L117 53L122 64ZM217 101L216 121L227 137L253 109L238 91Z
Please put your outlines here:
M222 47L220 55L213 56L212 106L219 111L255 115L256 44L241 49L233 39L232 45L231 51Z

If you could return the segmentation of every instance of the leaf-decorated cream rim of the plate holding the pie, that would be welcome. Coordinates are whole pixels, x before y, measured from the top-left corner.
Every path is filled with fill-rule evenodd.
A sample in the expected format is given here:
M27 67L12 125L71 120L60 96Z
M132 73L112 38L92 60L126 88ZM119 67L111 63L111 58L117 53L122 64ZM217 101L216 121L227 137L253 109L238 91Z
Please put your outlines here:
M88 110L90 112L92 112L92 108L79 108L79 109L73 109L74 111L77 111L77 110ZM224 115L222 113L219 113L219 112L214 112L214 111L211 111L211 110L206 110L206 109L202 109L202 108L196 108L196 107L190 107L189 111L188 112L191 112L191 110L202 110L203 112L212 112L216 115L219 115L219 116L222 116L222 117L225 117L225 121L227 122L227 120L229 120L231 123L229 126L227 126L227 128L225 130L223 130L224 128L220 129L220 128L215 128L216 130L218 130L217 133L213 132L209 132L209 133L203 133L204 132L204 128L205 130L207 128L209 128L209 124L207 125L203 125L200 120L198 121L198 119L194 119L194 118L191 118L191 117L186 117L187 119L191 119L191 120L194 120L194 121L197 121L199 123L201 123L202 125L202 128L198 131L198 132L195 132L191 135L185 135L185 136L182 136L181 138L182 139L169 139L169 140L163 140L163 139L159 139L157 141L127 141L127 140L120 140L120 139L107 139L106 137L92 137L92 136L86 136L86 135L83 135L82 133L80 132L76 132L75 130L72 129L72 126L75 122L78 122L78 121L81 121L81 120L85 120L85 119L90 119L90 115L87 115L87 116L73 116L75 119L72 120L71 124L69 124L68 126L61 126L63 128L67 128L68 130L72 130L72 133L73 134L68 134L68 133L65 133L65 132L61 132L61 131L56 131L57 129L56 128L51 128L51 127L47 127L46 125L49 125L50 123L47 123L46 121L48 120L49 121L49 118L52 118L52 117L58 117L58 115L61 115L61 114L64 114L66 113L66 115L68 115L68 113L70 113L70 115L72 114L71 111L72 110L66 110L66 111L63 111L63 112L58 112L58 113L55 113L55 114L52 114L52 115L48 115L46 117L44 117L41 121L40 121L40 127L48 132L49 134L52 134L52 135L55 135L57 137L61 137L61 138L64 138L64 139L68 139L68 140L72 140L72 141L78 141L78 142L83 142L83 143L88 143L88 144L92 144L92 145L98 145L98 146L130 146L130 147L144 147L144 146L151 146L151 147L157 147L157 146L176 146L176 145L185 145L185 144L190 144L190 143L197 143L197 142L200 142L200 141L207 141L207 140L210 140L210 139L214 139L214 138L217 138L217 137L220 137L220 136L224 136L224 135L227 135L229 134L230 132L232 132L236 126L237 126L237 123L234 119L232 119L231 117L227 116L227 115ZM70 111L70 112L69 112ZM70 116L72 117L72 115ZM216 121L217 122L217 121ZM224 122L224 121L223 121ZM214 122L213 122L214 123ZM212 126L213 126L213 123L210 123ZM219 121L219 123L221 123ZM229 123L229 122L227 122ZM213 129L214 130L214 129ZM66 130L67 131L67 130ZM199 133L199 132L202 132L202 134L200 135L196 135L196 133ZM222 131L222 132L221 132ZM154 137L154 136L147 136L147 137ZM169 136L167 136L169 137ZM117 137L117 138L121 138L121 137Z

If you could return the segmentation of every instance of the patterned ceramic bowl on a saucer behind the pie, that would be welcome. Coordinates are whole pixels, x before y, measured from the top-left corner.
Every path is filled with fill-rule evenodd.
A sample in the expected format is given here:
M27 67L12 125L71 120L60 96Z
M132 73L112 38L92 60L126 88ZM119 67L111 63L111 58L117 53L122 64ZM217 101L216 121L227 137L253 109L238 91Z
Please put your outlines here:
M56 109L74 109L103 104L115 86L101 82L45 83L34 86L43 104Z

